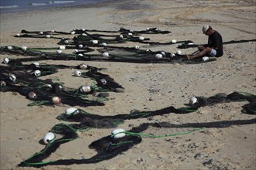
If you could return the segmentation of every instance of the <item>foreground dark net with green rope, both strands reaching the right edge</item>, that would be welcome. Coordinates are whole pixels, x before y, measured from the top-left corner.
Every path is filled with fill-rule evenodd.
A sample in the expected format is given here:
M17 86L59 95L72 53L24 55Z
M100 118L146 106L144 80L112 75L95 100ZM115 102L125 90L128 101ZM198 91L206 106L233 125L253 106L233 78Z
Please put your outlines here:
M116 128L111 134L93 141L88 147L95 149L97 154L92 158L83 159L60 159L57 161L43 162L43 159L49 157L60 145L73 141L78 138L76 131L89 131L91 128L113 128L117 124L122 124L123 121L128 119L137 119L140 117L152 117L162 114L188 114L199 109L199 107L205 107L207 105L222 104L227 102L237 102L247 100L251 106L247 107L247 104L243 106L247 114L256 114L256 96L251 93L234 92L230 94L216 94L213 97L197 97L199 100L195 104L191 104L189 107L182 107L175 109L175 107L166 107L161 110L154 111L131 111L130 114L117 114L115 116L100 116L96 114L89 114L84 110L78 110L69 108L70 110L61 114L57 118L64 121L81 121L80 124L56 124L44 137L52 134L51 138L46 142L46 147L36 154L30 156L25 161L21 162L19 166L33 166L43 167L46 165L72 165L72 164L90 164L102 162L110 158L133 148L134 145L142 142L142 138L166 138L175 135L189 134L194 131L203 131L205 128L228 128L234 125L255 124L256 118L249 120L233 120L233 121L214 121L214 122L198 122L198 123L186 123L186 124L171 124L169 122L157 122L157 123L143 123L137 127L133 127L130 131L125 131L122 128ZM89 120L89 121L88 121ZM171 128L176 132L172 134L144 134L147 128ZM179 129L185 129L178 131ZM178 131L178 132L177 132ZM61 134L62 138L55 138L54 134Z

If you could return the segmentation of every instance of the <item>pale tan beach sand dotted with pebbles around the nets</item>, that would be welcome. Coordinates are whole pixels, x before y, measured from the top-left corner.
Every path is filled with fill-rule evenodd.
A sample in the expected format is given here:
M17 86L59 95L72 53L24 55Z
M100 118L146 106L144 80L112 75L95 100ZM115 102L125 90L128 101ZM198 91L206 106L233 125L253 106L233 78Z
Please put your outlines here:
M97 5L58 8L36 12L1 14L1 46L54 47L57 40L15 38L22 29L29 31L73 29L133 30L157 29L171 31L168 35L143 35L151 41L171 39L206 43L202 26L209 24L221 33L223 42L255 39L254 1L111 1ZM139 45L137 42L122 46ZM178 45L177 45L178 46ZM176 45L143 46L151 50L175 53ZM182 49L192 53L196 49ZM227 44L224 54L214 62L180 63L115 63L85 61L91 66L105 67L102 71L125 88L125 93L110 92L109 100L101 107L79 107L100 115L130 114L130 110L158 110L164 107L185 107L193 96L211 97L216 93L243 91L256 93L255 42ZM16 59L20 56L0 55ZM51 61L43 63L77 66L81 61ZM2 63L1 63L2 64ZM85 80L72 76L74 70L59 70L42 79L59 78L66 87L80 87ZM150 93L150 92L155 93ZM41 151L43 135L58 121L57 115L69 107L33 106L19 93L1 94L1 167L0 169L36 169L18 167L30 155ZM119 128L130 130L129 124L168 121L174 124L247 120L255 115L241 112L244 102L231 102L200 107L190 114L166 114L151 118L125 121ZM88 145L111 133L113 129L92 129L79 132L79 138L61 145L44 161L91 158L96 152ZM255 124L209 128L191 134L142 138L140 144L110 160L85 165L49 165L40 169L255 169ZM179 131L179 132L182 132ZM144 134L171 134L171 128L148 128Z

